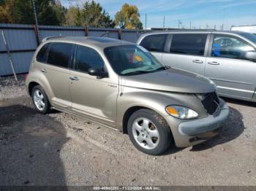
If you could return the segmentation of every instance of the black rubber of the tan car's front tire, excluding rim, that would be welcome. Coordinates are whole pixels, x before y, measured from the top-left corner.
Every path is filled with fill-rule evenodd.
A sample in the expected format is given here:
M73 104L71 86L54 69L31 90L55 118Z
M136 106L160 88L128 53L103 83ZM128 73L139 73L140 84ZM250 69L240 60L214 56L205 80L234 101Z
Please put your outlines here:
M153 122L154 125L157 126L157 130L159 131L159 144L157 145L156 148L144 149L143 147L140 147L140 145L137 143L137 141L135 141L135 138L132 135L132 124L139 117L145 117L148 120L151 120L151 122ZM139 149L140 151L142 151L148 155L160 155L160 154L162 154L162 152L165 152L167 147L170 146L171 137L172 137L170 128L166 122L163 123L163 122L159 121L159 118L161 118L161 116L150 109L140 109L140 110L134 112L129 117L129 120L128 120L128 124L127 124L128 129L127 130L128 130L129 139L132 141L132 144L137 149Z

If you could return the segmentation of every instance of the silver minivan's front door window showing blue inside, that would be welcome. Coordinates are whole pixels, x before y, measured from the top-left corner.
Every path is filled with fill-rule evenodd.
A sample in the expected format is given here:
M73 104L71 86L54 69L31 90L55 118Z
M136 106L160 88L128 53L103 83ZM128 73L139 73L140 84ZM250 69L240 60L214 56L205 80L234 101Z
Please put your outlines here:
M241 39L231 36L214 36L211 56L219 58L244 59L246 51L255 50Z

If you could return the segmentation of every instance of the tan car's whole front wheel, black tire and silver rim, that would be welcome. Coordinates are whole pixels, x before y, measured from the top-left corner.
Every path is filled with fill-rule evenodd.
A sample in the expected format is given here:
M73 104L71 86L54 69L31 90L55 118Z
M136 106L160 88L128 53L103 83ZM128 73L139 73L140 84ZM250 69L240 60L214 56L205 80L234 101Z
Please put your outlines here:
M150 109L134 112L127 128L132 144L148 155L160 155L170 146L172 136L167 122Z

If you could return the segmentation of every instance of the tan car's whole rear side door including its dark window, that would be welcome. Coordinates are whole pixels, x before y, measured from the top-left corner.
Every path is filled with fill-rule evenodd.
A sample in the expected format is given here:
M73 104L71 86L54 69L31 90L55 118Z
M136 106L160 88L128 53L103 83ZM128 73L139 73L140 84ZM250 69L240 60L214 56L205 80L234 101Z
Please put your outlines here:
M50 42L43 48L48 48L47 55L39 58L37 66L48 79L54 97L54 106L71 107L72 100L69 92L69 65L72 60L73 44ZM38 57L39 54L38 54Z

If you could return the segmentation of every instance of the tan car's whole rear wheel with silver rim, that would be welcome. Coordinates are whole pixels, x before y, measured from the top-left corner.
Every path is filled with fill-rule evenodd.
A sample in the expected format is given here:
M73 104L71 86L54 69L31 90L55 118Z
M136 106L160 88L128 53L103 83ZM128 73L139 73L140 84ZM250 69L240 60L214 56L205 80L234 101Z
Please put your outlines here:
M37 112L46 114L50 111L50 103L48 101L48 97L45 93L45 90L43 90L40 85L33 87L31 98L34 107L37 109Z

